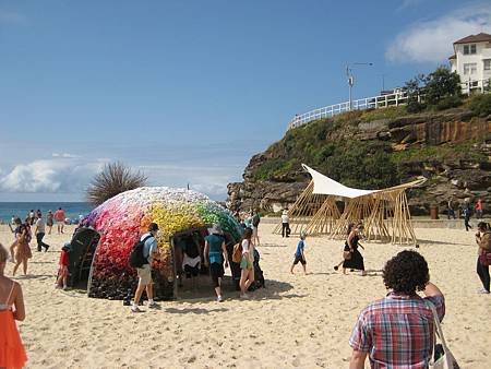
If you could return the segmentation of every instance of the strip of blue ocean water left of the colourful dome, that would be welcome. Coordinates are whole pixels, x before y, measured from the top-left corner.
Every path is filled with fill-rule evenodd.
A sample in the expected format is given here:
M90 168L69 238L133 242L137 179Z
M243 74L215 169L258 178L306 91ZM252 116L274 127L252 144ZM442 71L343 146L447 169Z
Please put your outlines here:
M32 209L35 212L39 209L46 218L48 211L55 213L58 207L64 210L65 216L70 219L79 218L79 214L87 215L94 209L86 202L0 202L0 221L10 222L12 215L24 219Z

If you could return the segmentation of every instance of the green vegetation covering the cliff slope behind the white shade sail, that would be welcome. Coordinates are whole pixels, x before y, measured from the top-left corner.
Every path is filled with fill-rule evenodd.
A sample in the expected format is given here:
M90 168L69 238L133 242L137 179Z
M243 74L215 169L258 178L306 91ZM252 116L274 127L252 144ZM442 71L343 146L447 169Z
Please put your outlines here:
M253 177L256 180L282 180L288 176L300 179L300 164L306 163L347 186L376 189L406 180L405 164L410 162L486 160L472 141L415 145L395 152L391 142L360 141L352 136L360 122L402 116L410 117L404 107L352 111L289 130L266 150L268 159L253 169Z

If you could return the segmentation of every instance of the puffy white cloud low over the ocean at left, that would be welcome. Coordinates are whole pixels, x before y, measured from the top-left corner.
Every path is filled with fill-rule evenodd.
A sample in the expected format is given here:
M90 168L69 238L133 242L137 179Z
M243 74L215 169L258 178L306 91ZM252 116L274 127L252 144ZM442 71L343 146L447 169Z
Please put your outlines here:
M19 164L0 175L1 192L82 192L100 170L100 160L55 158Z

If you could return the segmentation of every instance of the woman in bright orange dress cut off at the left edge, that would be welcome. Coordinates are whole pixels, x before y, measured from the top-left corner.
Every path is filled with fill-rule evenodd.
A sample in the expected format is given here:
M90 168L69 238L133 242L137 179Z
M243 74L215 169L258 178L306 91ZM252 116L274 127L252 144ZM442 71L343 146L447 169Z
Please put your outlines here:
M24 298L19 283L5 276L9 252L0 243L0 368L23 368L27 361L15 321L25 319Z

